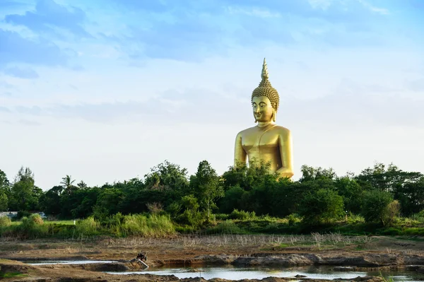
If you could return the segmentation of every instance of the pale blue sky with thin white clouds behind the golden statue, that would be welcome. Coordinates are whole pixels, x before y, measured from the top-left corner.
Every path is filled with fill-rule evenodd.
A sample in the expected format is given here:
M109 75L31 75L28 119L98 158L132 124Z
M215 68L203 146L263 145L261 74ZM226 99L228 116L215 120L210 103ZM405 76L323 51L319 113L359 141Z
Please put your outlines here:
M266 57L303 164L422 170L420 0L0 0L0 169L49 189L232 165Z

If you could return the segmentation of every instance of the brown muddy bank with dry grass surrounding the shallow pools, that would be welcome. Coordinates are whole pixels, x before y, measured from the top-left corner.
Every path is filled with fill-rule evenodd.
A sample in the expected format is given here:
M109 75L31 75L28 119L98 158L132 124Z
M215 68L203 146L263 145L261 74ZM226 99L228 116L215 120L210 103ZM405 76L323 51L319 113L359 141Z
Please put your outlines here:
M176 277L153 277L149 276L150 274L109 277L101 272L141 269L138 264L129 263L140 251L147 252L148 264L151 267L203 264L235 266L323 264L336 267L349 266L351 268L346 268L346 271L358 271L361 268L402 269L414 265L418 271L424 266L424 239L421 237L348 237L335 234L316 236L216 235L180 236L173 239L98 237L78 241L8 240L0 242L0 257L13 260L11 264L17 265L16 273L28 275L16 277L13 281L25 281L37 277L56 279L64 276L72 279L100 279L81 281L178 280ZM110 260L117 263L108 264L109 266L105 264L29 266L22 263L28 260L86 259ZM6 269L7 267L9 266L6 266ZM1 271L4 271L4 267ZM10 267L8 272L11 272ZM284 278L278 281L289 280ZM196 281L199 281L199 278Z

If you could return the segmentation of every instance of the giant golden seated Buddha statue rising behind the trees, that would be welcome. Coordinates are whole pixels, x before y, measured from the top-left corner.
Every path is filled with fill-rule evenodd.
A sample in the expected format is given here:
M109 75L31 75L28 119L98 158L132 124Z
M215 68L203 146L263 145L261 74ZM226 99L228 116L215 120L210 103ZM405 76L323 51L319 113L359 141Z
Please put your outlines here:
M293 176L292 139L290 130L275 124L280 97L269 82L268 67L264 59L262 81L252 93L252 107L256 127L237 134L234 163L249 163L253 160L268 163L271 172L278 177Z

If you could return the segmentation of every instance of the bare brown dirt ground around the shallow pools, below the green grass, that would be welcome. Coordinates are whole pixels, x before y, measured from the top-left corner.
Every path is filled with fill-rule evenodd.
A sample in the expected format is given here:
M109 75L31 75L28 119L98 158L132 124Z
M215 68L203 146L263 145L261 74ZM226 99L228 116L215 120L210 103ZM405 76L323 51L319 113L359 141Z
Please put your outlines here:
M45 259L95 259L122 262L134 259L136 254L141 251L147 252L148 264L153 267L201 264L204 261L199 257L208 257L207 255L211 257L219 254L236 257L315 254L327 259L381 256L396 257L396 264L403 263L402 259L397 258L408 257L408 262L411 262L411 257L413 257L416 258L417 264L421 264L421 262L424 264L424 237L219 235L179 236L172 239L103 237L95 240L40 239L25 241L9 238L9 240L0 242L0 258L10 259L14 262L3 261L0 272L7 270L9 264L13 264L12 270L15 269L25 275L6 278L4 281L184 281L175 276L111 276L102 272L90 271L83 266L28 267L28 264L16 262ZM71 280L66 280L64 277ZM278 281L287 280L290 279L278 278Z

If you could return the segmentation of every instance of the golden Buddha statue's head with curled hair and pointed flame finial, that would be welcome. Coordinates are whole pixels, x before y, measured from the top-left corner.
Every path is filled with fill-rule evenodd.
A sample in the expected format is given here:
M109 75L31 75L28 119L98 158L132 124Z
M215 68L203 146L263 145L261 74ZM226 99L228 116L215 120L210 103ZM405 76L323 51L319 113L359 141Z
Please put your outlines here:
M268 66L264 59L261 73L262 81L252 93L254 122L275 122L280 97L269 82Z

